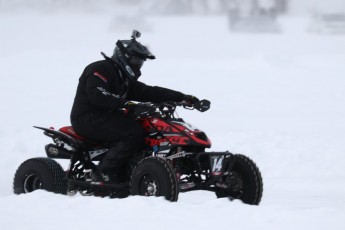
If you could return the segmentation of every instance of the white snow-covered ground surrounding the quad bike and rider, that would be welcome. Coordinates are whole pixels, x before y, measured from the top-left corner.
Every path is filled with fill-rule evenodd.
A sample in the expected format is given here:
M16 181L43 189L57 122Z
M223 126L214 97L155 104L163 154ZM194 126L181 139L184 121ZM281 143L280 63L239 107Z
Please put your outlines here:
M32 126L68 125L83 68L130 35L131 22L115 15L1 13L0 229L345 229L345 36L308 34L305 18L282 18L274 35L230 33L221 16L137 20L157 56L141 80L212 101L206 113L179 115L208 134L211 150L257 163L259 206L206 191L177 203L13 195L17 167L50 142Z

